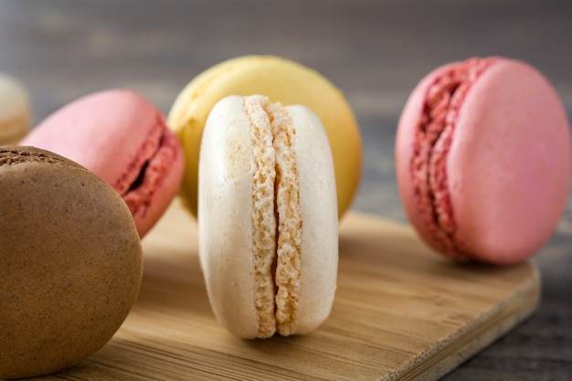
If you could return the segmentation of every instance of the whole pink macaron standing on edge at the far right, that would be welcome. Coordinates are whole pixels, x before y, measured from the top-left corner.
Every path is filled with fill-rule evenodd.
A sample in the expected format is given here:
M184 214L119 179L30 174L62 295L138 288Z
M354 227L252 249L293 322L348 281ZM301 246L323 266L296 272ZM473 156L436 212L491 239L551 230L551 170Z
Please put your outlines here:
M552 236L567 204L567 113L548 79L522 61L453 62L411 93L396 165L407 215L432 248L519 262Z

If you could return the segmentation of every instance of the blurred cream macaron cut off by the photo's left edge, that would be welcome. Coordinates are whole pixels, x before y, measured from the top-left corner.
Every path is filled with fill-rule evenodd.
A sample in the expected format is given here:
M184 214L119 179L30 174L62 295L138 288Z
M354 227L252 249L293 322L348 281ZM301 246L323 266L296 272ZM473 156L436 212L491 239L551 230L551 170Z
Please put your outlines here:
M22 82L0 73L0 145L18 143L30 130L32 108Z

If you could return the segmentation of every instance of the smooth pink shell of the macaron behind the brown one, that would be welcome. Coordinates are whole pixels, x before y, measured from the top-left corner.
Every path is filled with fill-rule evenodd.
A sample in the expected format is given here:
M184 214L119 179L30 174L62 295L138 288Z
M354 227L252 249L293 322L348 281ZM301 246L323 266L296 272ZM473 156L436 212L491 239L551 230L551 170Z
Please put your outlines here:
M156 119L156 111L132 91L100 91L55 111L20 144L69 157L114 184L146 142ZM134 133L133 126L140 132Z

